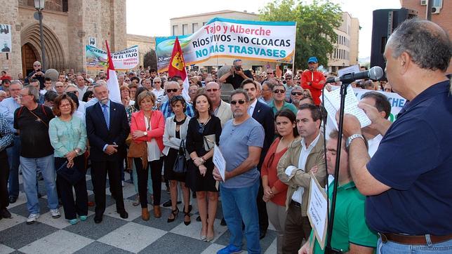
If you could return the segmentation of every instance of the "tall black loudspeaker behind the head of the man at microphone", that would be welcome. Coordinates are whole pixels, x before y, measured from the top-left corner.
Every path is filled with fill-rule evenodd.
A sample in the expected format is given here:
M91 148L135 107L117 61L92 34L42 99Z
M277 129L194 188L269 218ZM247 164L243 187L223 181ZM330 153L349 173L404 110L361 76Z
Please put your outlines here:
M380 9L373 11L371 67L380 66L385 69L385 46L387 39L404 20L415 18L418 11L401 9ZM386 74L382 79L386 79Z

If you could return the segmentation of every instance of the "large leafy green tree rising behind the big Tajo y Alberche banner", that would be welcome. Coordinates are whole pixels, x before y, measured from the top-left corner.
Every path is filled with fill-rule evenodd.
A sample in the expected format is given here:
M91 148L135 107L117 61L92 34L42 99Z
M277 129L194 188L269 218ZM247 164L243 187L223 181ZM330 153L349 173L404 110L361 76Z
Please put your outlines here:
M334 29L342 22L338 4L328 0L314 0L312 4L293 0L275 0L260 10L263 21L297 22L295 68L307 68L307 59L317 56L319 65L328 65L328 55L333 53L337 34Z

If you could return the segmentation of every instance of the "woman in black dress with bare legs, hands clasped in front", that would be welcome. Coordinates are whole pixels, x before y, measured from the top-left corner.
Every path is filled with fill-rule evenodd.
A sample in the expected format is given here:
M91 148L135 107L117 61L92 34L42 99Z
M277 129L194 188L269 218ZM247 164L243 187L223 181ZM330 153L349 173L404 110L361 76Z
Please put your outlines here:
M195 116L190 119L187 131L188 163L187 186L197 192L197 203L201 217L200 239L212 241L215 234L213 222L218 206L218 189L213 179L213 146L220 141L220 119L213 115L212 103L207 95L199 93L194 98ZM208 199L208 204L206 201Z

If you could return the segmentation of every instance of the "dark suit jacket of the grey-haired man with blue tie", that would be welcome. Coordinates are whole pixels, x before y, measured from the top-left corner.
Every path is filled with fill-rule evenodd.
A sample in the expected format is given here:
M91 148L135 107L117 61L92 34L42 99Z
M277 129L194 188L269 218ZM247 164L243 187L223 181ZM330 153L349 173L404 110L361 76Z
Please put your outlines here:
M123 105L110 100L110 129L107 129L104 114L100 104L96 103L86 108L86 134L91 145L92 161L113 161L117 159L117 153L108 155L103 152L105 145L118 145L118 151L131 132L128 126L126 109Z

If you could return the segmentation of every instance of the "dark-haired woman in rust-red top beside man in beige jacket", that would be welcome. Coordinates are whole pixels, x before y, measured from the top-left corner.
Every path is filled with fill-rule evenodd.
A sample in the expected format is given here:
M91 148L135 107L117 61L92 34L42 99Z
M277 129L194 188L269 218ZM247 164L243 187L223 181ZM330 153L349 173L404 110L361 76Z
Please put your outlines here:
M288 146L298 137L296 117L290 109L281 109L276 114L276 126L279 138L274 140L261 168L263 199L267 202L267 214L277 229L277 253L282 253L284 223L286 221L287 185L278 179L277 165Z

